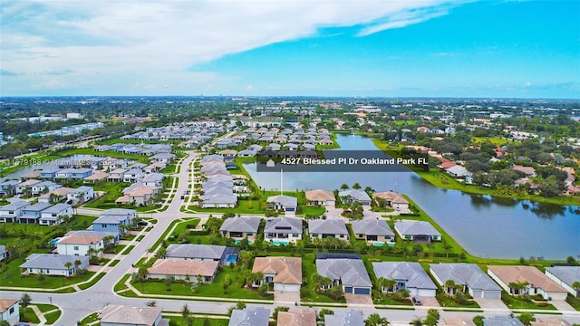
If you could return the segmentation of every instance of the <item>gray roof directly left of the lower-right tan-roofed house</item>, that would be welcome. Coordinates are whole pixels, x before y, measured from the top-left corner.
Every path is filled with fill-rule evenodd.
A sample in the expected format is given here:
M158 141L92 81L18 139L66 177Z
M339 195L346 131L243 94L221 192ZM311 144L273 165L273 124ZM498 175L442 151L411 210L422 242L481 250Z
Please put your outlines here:
M432 273L441 282L453 280L457 284L467 284L474 290L501 291L499 285L484 273L477 264L430 264Z

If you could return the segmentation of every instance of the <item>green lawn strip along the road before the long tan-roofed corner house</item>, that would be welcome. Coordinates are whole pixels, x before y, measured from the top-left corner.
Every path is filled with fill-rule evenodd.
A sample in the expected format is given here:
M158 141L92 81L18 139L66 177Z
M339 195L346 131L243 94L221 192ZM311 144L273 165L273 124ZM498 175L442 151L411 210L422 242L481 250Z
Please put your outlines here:
M224 290L224 280L226 275L231 280L231 284ZM191 276L195 278L195 276ZM256 291L247 290L242 288L242 283L244 282L241 275L241 270L239 266L235 266L231 269L229 266L225 267L223 270L218 272L218 275L214 279L213 283L204 283L198 288L197 292L191 290L191 285L189 283L174 282L170 285L170 291L167 291L166 284L161 281L147 281L145 283L140 283L140 281L133 282L133 286L140 292L146 294L171 294L171 295L189 295L189 296L207 296L215 298L237 298L237 299L261 299L261 300L272 300L273 295L268 294L265 297L261 297Z

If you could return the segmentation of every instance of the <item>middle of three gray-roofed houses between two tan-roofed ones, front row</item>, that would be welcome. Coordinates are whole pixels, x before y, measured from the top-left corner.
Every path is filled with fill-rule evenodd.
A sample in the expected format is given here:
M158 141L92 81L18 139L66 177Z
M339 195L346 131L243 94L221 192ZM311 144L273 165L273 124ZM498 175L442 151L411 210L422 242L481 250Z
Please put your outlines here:
M407 290L411 296L430 297L434 297L437 292L437 285L431 281L429 275L419 263L372 263L372 270L377 278L383 277L397 282L392 289L383 288L383 292Z

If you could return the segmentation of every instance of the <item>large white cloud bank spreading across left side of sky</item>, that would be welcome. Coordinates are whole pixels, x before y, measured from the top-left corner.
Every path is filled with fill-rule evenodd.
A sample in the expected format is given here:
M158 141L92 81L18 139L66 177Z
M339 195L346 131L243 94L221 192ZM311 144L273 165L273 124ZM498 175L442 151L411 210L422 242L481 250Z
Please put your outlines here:
M152 85L161 83L153 80L176 78L179 73L178 80L188 81L198 77L186 72L189 67L227 54L307 37L324 27L359 26L360 36L374 34L447 14L449 6L457 4L457 0L8 1L0 12L0 57L3 69L14 73L74 72L68 78L79 80L91 78L87 76L127 80L129 74L147 79L143 84L149 86L141 89L159 90ZM178 85L162 84L169 89Z

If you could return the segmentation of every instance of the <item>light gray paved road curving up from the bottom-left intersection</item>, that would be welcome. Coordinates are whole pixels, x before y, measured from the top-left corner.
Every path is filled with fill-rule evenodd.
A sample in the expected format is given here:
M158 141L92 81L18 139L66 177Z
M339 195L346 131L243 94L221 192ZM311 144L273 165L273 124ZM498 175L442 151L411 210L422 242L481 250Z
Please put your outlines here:
M175 177L178 177L181 182L177 187L177 192L175 193L175 197L169 204L169 207L164 212L160 213L153 213L151 216L158 220L157 225L151 229L148 235L146 235L139 243L136 245L130 254L127 254L119 264L111 269L109 273L106 273L102 279L93 285L91 288L81 291L81 292L74 292L74 293L65 293L65 294L58 294L58 293L41 293L41 292L31 292L30 295L33 299L33 302L41 302L41 303L48 303L53 302L53 304L57 305L63 311L61 318L54 325L73 325L76 321L82 320L86 315L91 314L92 312L96 312L102 309L103 306L106 304L120 304L125 306L145 306L145 303L150 301L151 299L142 299L142 298L126 298L121 297L120 295L113 292L114 284L117 283L121 277L129 273L131 271L131 264L136 263L139 259L148 253L151 245L157 241L158 238L163 234L163 232L167 229L171 221L175 219L179 219L183 216L199 216L199 217L207 217L207 214L186 214L179 212L179 208L183 202L181 199L181 194L183 194L184 190L188 188L188 182L184 182L188 180L188 167L189 163L196 158L196 154L193 152L189 152L189 157L183 159L181 161L181 168L178 174ZM98 214L99 211L95 210L88 210L88 209L79 209L80 214ZM0 292L0 297L2 298L20 298L23 292L9 292L3 291ZM191 312L197 313L226 313L228 308L233 305L232 302L203 302L203 301L184 301L184 300L163 300L163 299L155 299L157 302L158 307L162 307L166 311L175 311L179 312L184 304L189 305L189 310ZM273 310L274 306L271 304L248 304L251 306L263 306L268 309ZM326 307L330 308L333 311L344 310L344 308L338 307ZM361 306L356 307L356 310L360 310L364 313L364 315L368 315L371 313L379 313L382 316L387 317L391 324L408 324L409 321L415 319L416 317L423 317L426 315L426 311L429 307L420 307L417 311L400 311L400 310L374 310L372 307L364 307ZM485 313L474 313L474 312L460 312L461 314L467 314L469 318L472 318L476 314L485 315L485 316L494 316L497 314L505 314L505 310L486 310ZM441 316L455 316L458 315L459 312L442 312ZM536 313L536 316L539 316L539 313ZM572 323L580 323L580 312L565 312L563 316L567 321Z

